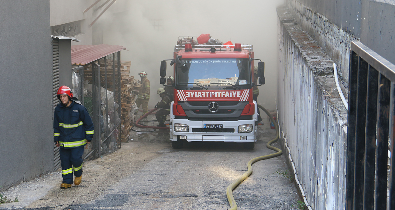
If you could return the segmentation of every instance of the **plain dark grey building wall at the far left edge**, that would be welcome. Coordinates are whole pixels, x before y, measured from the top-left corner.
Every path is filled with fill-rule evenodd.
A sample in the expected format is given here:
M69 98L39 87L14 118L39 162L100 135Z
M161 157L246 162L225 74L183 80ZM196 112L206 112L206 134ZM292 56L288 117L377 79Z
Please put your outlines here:
M53 170L49 0L0 1L0 190Z

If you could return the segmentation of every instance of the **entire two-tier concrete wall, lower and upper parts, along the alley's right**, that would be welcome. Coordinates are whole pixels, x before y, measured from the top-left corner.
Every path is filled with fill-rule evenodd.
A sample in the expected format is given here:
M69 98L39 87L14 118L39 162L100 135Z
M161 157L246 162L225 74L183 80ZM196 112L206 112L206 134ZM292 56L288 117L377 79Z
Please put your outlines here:
M347 112L322 68L337 64L348 98L352 41L394 63L395 2L287 0L286 7L278 9L280 125L313 209L344 209Z

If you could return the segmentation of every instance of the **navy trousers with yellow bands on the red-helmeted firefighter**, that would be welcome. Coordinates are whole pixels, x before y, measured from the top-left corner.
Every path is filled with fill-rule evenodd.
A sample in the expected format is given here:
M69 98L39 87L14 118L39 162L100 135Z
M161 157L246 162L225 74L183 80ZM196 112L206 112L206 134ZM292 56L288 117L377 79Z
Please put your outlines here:
M62 178L63 183L73 183L73 171L75 177L82 175L82 155L84 154L84 147L77 147L72 149L59 149L60 161L62 164Z

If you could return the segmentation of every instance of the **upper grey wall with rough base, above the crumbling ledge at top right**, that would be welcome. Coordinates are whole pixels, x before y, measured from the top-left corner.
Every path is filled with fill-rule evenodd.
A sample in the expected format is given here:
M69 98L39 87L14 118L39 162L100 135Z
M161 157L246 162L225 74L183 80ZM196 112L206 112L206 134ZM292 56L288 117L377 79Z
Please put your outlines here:
M346 83L352 41L361 41L395 63L393 4L388 0L287 0L299 26L336 62Z

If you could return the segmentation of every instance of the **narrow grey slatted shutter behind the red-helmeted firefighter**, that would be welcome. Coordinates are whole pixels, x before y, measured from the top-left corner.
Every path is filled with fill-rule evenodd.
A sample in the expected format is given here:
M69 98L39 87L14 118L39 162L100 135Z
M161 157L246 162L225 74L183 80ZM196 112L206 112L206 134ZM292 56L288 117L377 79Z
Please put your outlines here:
M56 92L59 89L59 39L52 40L53 109L59 104ZM60 168L59 147L54 144L54 171Z

